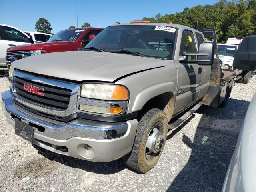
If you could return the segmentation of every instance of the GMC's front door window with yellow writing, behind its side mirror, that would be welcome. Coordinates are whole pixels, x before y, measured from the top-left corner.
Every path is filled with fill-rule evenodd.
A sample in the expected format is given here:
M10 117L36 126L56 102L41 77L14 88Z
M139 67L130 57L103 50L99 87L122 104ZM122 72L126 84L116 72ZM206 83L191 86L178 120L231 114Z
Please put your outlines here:
M184 30L182 32L180 55L184 52L196 53L196 42L192 31ZM188 56L188 60L196 60L196 55Z

